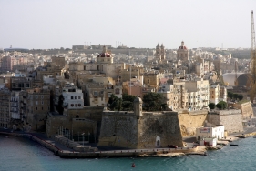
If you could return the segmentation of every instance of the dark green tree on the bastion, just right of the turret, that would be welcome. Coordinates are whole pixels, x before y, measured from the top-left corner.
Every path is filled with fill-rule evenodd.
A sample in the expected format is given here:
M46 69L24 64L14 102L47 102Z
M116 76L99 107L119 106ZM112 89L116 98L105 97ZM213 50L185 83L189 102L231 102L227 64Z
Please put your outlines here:
M159 93L150 92L143 96L144 106L148 111L159 111L161 110L163 96Z

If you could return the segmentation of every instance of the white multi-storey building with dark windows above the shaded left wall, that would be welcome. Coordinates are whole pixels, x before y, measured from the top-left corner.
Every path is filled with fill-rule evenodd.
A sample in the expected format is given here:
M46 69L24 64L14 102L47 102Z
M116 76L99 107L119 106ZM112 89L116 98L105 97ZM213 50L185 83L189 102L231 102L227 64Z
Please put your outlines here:
M62 95L64 96L63 106L66 106L67 109L83 108L84 94L74 84L66 84L62 90Z

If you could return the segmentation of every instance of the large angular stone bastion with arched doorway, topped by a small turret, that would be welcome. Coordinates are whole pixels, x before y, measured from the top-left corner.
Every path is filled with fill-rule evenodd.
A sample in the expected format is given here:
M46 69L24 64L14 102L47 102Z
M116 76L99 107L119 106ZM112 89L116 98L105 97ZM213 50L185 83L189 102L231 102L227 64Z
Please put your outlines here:
M98 146L154 148L183 146L177 112L105 112Z

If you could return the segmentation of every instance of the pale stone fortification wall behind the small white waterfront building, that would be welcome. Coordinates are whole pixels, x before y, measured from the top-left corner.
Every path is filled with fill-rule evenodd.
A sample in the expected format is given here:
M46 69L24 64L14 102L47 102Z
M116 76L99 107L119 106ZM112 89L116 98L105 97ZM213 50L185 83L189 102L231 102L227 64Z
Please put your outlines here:
M207 116L207 122L223 125L228 133L243 131L241 110L214 110Z

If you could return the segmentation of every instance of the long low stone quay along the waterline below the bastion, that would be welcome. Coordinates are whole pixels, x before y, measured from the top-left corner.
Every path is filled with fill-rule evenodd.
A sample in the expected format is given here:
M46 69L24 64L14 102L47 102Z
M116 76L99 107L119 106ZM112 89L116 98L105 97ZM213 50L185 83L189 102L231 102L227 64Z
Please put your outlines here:
M6 136L21 136L36 141L52 151L56 156L62 158L96 158L96 157L128 157L128 156L184 156L184 155L205 155L205 150L199 146L178 147L178 148L150 148L150 149L125 149L125 150L99 150L99 151L75 151L64 146L44 134L40 133L16 133L1 131Z

